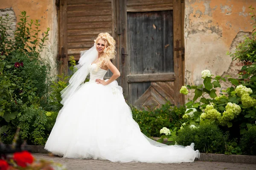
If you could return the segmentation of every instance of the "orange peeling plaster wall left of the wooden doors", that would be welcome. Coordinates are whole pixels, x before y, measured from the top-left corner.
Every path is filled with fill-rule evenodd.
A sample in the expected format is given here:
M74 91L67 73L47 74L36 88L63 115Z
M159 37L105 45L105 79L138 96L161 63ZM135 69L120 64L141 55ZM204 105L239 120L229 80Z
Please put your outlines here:
M40 21L41 34L47 30L47 27L50 28L49 40L45 44L47 46L42 57L47 57L50 60L53 68L52 74L56 74L57 69L54 68L58 53L58 18L55 0L0 0L0 16L4 16L6 13L12 14L10 15L12 21L17 23L20 20L21 11L27 12L27 16L30 16L28 20L38 19Z

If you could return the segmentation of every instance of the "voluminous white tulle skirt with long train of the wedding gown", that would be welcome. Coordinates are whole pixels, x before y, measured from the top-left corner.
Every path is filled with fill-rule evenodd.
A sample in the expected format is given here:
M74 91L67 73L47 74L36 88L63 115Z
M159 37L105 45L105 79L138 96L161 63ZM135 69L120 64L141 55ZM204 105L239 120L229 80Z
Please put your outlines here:
M190 146L167 146L141 133L117 82L87 82L64 105L45 149L74 159L114 162L192 162L199 157Z

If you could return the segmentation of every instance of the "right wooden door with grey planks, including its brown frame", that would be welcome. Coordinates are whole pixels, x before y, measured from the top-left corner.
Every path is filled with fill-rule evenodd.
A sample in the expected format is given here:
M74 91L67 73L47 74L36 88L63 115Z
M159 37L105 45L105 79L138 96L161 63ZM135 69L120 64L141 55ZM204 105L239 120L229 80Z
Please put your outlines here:
M180 0L127 0L128 57L122 67L128 101L154 108L170 101L182 105L182 4ZM125 37L125 36L124 36ZM123 45L125 46L125 45Z

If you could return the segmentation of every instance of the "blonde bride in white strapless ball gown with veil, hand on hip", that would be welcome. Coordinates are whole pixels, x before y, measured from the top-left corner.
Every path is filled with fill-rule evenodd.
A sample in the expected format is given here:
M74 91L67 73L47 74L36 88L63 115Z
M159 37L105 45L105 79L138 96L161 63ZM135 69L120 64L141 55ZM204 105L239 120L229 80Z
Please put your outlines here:
M115 79L120 76L111 63L115 40L101 33L95 45L80 52L78 71L62 91L64 105L58 113L45 149L74 159L108 159L113 162L193 162L199 157L194 144L167 146L149 139L132 118L131 109ZM113 73L103 80L107 70ZM90 81L84 83L87 74Z

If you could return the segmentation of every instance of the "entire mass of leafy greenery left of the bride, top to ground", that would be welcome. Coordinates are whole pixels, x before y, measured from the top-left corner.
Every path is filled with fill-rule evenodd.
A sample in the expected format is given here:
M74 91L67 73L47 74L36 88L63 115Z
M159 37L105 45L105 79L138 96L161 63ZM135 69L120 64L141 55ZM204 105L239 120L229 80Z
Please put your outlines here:
M0 136L10 143L20 127L22 139L44 144L49 119L40 105L47 103L50 63L40 53L49 28L39 36L39 20L28 21L26 11L20 17L14 37L9 15L0 17Z

